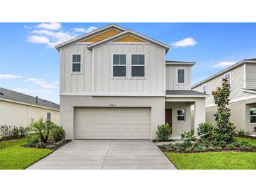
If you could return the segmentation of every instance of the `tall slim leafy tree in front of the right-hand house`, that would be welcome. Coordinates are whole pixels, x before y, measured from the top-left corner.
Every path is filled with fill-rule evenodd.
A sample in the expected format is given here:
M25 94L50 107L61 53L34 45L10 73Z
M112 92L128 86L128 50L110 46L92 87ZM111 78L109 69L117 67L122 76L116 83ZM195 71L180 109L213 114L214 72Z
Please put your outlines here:
M232 142L235 126L229 121L230 109L227 105L229 105L230 101L230 85L227 78L222 79L222 87L218 87L212 94L214 102L217 104L217 112L214 115L216 127L213 129L213 139L217 142Z

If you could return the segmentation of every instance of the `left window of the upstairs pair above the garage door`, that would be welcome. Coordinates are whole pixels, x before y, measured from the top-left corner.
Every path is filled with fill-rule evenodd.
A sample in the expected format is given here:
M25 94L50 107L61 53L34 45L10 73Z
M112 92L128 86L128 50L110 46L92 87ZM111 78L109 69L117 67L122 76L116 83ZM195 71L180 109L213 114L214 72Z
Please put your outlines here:
M126 55L113 55L113 76L126 76Z

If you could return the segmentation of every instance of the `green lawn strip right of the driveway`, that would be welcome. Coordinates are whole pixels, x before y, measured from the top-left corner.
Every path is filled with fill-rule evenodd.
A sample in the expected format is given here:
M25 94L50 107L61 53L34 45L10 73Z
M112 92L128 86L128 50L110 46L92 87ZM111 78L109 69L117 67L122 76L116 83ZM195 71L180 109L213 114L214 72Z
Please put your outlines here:
M256 153L210 152L168 153L166 156L180 170L255 170Z

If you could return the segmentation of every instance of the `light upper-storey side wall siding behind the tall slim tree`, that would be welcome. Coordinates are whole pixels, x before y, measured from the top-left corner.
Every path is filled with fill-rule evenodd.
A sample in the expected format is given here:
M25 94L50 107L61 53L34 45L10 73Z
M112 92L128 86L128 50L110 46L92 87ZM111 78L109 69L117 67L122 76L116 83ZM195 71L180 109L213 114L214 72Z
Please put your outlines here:
M229 73L229 71L227 71L225 74L227 73ZM196 88L193 88L193 90L202 92L202 85L206 84L206 91L207 91L206 93L209 95L208 97L206 97L206 105L214 104L212 91L216 90L218 86L221 86L223 77L224 77L224 74L220 74L219 76L211 79L210 81L207 81L206 83L203 83L201 85L198 85ZM244 66L242 64L239 67L231 69L230 100L235 100L239 97L247 96L248 94L246 92L243 92L242 90L243 88L244 88Z

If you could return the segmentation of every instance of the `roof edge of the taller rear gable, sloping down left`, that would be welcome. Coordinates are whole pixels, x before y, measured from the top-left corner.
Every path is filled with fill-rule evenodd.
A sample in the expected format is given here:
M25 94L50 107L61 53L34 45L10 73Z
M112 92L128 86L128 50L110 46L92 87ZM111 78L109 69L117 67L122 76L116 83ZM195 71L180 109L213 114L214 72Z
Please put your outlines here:
M83 34L83 35L81 35L81 36L77 36L77 37L74 38L74 39L70 39L69 41L65 41L65 42L63 42L63 43L60 43L60 44L58 44L57 46L55 46L55 48L56 48L57 50L60 50L60 48L62 48L62 47L64 47L64 46L67 46L67 45L69 45L69 44L71 44L71 43L74 43L74 42L76 42L76 41L81 41L82 39L86 39L86 38L88 38L88 37L90 37L90 36L93 36L93 35L95 35L95 34L98 34L98 33L100 33L100 32L107 31L108 29L117 29L117 30L119 30L119 31L121 31L121 32L123 32L123 31L126 30L125 28L120 27L120 26L118 26L118 25L110 24L110 25L107 25L107 26L105 26L105 27L101 27L100 29L96 29L96 30L94 30L93 32L90 32L90 33L87 33L87 34Z

